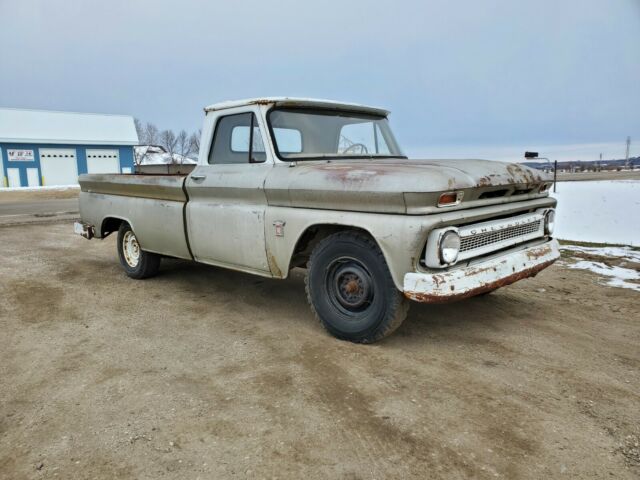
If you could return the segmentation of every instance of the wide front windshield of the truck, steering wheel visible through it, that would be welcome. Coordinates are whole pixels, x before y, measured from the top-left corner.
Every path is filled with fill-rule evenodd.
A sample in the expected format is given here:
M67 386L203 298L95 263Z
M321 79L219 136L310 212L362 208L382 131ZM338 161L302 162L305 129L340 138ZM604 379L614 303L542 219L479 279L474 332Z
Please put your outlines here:
M276 109L269 128L282 160L402 157L385 117L335 110Z

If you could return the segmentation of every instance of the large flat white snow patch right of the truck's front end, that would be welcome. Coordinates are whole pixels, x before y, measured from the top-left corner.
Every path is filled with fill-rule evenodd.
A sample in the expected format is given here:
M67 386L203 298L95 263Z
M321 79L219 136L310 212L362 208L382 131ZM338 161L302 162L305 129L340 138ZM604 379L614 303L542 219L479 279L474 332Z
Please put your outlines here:
M558 182L555 236L640 245L640 180Z

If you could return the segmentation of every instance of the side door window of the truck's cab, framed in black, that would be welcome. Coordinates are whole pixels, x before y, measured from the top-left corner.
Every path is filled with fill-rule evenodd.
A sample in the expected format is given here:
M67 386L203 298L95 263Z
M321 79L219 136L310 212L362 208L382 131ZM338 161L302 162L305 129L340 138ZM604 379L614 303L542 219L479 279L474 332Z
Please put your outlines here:
M260 128L253 113L238 113L218 119L209 150L209 163L260 163L266 159Z

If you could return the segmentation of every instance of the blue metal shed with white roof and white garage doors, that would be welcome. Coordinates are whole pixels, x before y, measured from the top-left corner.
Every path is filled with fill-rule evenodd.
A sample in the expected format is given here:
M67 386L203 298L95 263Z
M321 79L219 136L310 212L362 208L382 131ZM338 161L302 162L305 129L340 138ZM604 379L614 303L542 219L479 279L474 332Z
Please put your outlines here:
M82 173L128 173L133 117L0 108L1 187L77 185Z

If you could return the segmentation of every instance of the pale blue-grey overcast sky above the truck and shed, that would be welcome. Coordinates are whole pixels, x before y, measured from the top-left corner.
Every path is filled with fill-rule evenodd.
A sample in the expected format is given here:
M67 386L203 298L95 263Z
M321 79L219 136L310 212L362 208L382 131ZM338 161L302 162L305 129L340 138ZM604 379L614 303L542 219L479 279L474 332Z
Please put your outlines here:
M392 111L426 158L640 154L640 0L0 0L0 106L196 130L286 95ZM517 159L517 158L514 158Z

